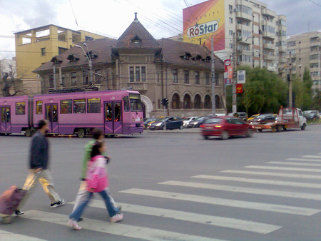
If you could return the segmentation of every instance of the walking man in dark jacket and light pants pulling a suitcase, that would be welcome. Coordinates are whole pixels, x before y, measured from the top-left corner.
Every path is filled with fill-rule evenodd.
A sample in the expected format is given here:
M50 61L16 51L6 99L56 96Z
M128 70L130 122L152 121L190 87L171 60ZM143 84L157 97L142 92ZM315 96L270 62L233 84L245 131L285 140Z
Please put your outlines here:
M56 193L54 180L49 170L49 143L46 138L46 133L48 133L49 130L48 124L48 120L39 120L39 129L31 140L29 156L30 170L23 188L28 190L28 192L24 199L21 200L19 207L15 211L18 216L24 215L24 212L21 212L21 207L23 207L38 182L42 185L45 193L49 196L51 207L62 206L66 202L66 200L61 199L58 193Z

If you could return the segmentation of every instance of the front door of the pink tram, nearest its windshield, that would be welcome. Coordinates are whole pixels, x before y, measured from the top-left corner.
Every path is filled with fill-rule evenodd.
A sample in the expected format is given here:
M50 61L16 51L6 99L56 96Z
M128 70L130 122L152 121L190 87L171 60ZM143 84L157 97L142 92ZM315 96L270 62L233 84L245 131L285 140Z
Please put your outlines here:
M105 134L123 133L121 101L104 102Z

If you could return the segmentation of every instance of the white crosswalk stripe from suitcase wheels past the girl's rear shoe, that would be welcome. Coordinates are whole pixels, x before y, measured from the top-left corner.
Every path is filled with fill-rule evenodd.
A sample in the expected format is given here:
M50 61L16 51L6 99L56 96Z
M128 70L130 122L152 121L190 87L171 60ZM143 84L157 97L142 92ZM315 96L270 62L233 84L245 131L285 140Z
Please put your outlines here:
M42 212L30 210L26 212L24 218L31 220L39 220L42 222L51 222L56 225L67 225L68 215L61 215L54 212ZM133 225L125 225L121 223L109 223L101 220L92 220L86 218L81 222L81 227L86 230L104 232L111 235L120 235L124 237L138 238L139 240L217 240L208 237L195 235L185 235L179 232L170 232L166 230L157 230L149 227L138 227Z

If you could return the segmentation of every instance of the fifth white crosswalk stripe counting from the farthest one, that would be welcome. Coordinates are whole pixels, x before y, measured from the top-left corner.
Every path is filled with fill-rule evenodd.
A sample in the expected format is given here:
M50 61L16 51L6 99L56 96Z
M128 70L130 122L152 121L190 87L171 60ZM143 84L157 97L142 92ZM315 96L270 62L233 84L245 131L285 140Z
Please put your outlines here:
M283 178L302 178L302 179L321 179L320 175L304 175L304 174L292 174L292 173L269 173L260 171L249 171L249 170L221 170L220 173L234 173L234 174L246 174L246 175L267 175L274 177Z

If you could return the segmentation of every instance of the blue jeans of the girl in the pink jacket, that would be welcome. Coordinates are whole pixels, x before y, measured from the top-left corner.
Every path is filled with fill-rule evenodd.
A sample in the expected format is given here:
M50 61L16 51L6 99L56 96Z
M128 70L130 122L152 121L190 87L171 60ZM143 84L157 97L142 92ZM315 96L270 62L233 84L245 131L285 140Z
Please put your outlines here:
M117 207L113 206L113 203L111 202L111 199L109 198L106 190L101 191L99 194L101 195L101 197L105 201L109 216L110 217L115 216L117 214L117 212L119 211L119 209ZM86 200L83 201L81 203L81 205L78 205L76 210L71 212L71 215L69 215L69 217L73 220L79 220L79 218L81 217L81 214L83 213L83 210L85 209L85 207L87 206L88 202L91 200L92 197L93 197L93 193L87 192Z

